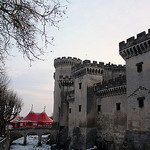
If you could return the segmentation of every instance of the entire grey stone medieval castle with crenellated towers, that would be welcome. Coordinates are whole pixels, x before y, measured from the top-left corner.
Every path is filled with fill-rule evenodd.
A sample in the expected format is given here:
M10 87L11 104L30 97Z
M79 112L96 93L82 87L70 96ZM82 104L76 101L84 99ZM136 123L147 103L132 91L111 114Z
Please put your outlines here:
M150 29L120 42L119 53L126 65L54 60L59 145L150 150Z

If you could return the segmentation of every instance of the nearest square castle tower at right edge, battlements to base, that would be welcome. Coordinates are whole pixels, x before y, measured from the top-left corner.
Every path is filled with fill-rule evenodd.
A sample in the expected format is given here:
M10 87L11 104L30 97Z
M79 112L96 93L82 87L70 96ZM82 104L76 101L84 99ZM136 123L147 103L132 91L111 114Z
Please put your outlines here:
M126 61L127 140L130 149L150 149L150 29L119 43Z

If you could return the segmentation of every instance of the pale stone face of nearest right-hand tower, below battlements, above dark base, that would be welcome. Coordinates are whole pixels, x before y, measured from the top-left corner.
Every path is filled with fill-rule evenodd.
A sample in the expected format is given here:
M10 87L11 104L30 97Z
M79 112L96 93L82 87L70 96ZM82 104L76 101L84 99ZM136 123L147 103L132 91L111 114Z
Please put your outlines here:
M150 131L150 52L127 59L128 130ZM138 70L138 64L141 69Z

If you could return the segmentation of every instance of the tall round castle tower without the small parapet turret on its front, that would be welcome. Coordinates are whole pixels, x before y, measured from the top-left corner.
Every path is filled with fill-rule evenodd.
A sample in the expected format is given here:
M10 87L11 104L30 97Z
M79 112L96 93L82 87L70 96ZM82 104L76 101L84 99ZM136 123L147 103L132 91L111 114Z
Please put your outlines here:
M54 73L54 80L55 80L55 86L54 86L54 111L53 111L53 117L55 123L60 123L60 117L63 116L62 113L62 92L64 90L64 86L61 86L61 81L64 78L71 79L71 68L81 63L82 61L80 59L77 59L75 57L62 57L62 58L56 58L54 60L54 67L55 67L55 73Z

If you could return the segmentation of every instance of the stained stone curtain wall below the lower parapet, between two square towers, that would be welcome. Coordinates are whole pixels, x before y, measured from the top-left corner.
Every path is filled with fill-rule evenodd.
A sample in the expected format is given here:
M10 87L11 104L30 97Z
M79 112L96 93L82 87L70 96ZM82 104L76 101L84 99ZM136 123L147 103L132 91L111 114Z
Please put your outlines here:
M97 99L97 136L122 143L127 126L126 95Z

